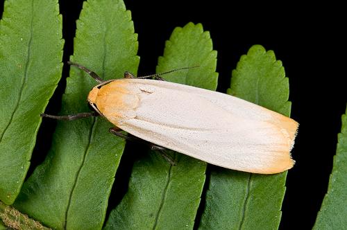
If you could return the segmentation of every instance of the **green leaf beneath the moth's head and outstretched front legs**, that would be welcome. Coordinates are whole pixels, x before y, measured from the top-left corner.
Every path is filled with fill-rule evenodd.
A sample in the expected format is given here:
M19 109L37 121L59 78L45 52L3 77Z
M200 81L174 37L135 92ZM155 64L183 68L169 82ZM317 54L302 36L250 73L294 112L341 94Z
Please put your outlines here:
M136 73L137 35L130 11L119 0L85 1L77 21L71 60L104 80ZM87 94L97 83L70 68L61 114L89 111ZM101 229L123 139L108 132L103 118L58 122L44 163L22 188L15 206L54 229Z

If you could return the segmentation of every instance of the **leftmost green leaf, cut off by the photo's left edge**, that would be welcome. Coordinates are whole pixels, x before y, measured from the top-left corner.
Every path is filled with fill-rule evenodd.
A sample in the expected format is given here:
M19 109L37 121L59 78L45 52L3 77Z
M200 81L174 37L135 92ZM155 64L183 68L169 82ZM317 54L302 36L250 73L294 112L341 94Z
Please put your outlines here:
M62 71L57 0L5 1L0 22L0 200L24 182L44 112Z

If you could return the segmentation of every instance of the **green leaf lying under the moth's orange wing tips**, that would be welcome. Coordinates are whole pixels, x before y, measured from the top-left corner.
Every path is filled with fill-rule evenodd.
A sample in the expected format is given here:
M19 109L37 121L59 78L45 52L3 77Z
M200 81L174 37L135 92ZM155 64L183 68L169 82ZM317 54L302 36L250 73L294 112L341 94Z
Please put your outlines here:
M252 46L232 71L228 94L290 114L289 83L273 51ZM287 172L259 175L212 168L200 229L278 229Z

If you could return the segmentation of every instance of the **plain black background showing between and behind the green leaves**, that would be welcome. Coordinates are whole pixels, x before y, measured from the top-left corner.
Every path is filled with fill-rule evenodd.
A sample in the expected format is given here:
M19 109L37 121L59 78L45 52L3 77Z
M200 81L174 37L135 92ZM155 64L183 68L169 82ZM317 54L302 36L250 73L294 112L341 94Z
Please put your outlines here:
M82 2L60 0L65 62L73 53L76 19ZM342 35L346 33L347 20L339 10L342 7L293 3L265 6L251 2L240 5L229 1L125 0L125 3L139 35L139 75L155 72L165 40L176 26L185 26L189 21L202 23L210 31L214 49L218 51L217 91L226 91L232 69L253 44L275 51L289 77L291 117L301 124L292 152L296 165L287 176L280 229L311 229L328 188L341 114L347 103L346 35ZM64 78L67 73L65 67ZM58 113L64 89L65 79L62 79L46 109L48 113ZM37 143L31 171L44 159L35 152L49 149L54 127L53 121L43 121L38 135L46 143ZM126 153L130 154L129 150ZM125 156L124 161L129 158ZM129 169L120 170L130 174ZM118 180L127 185L126 181Z

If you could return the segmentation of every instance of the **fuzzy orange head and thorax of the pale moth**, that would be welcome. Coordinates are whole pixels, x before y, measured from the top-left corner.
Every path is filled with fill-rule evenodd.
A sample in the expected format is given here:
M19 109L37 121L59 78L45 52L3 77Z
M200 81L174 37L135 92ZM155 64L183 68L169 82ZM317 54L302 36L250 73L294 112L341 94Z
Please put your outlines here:
M139 104L138 96L124 80L112 81L100 89L94 87L88 101L94 103L101 114L115 125L135 117L135 109Z

